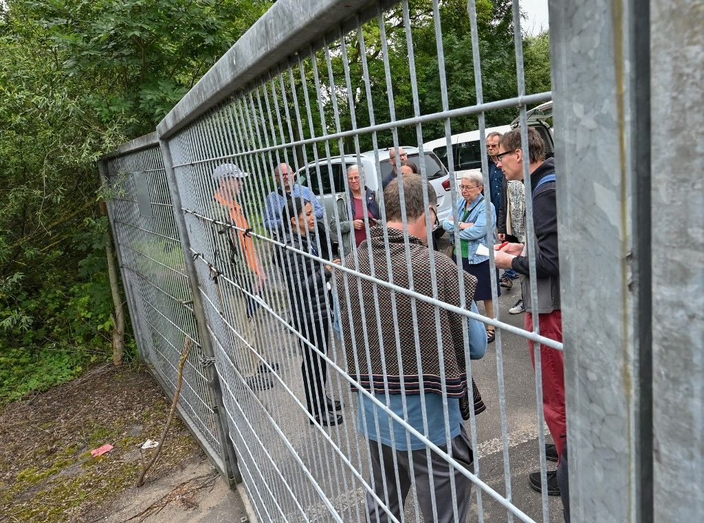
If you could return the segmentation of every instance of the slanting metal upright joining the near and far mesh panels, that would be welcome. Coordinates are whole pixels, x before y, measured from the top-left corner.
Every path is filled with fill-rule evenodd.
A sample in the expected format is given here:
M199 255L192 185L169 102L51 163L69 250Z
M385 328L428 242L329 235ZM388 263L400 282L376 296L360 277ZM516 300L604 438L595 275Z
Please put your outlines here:
M186 271L188 273L189 282L191 285L193 311L196 316L196 324L201 337L201 348L206 358L213 363L212 365L206 365L208 386L210 386L210 390L213 393L213 403L215 403L215 405L213 405L213 410L215 412L215 419L218 421L218 430L220 431L222 439L221 458L225 468L224 472L227 474L227 481L229 481L232 486L233 482L239 483L242 481L242 477L239 472L239 467L237 466L237 455L234 453L232 441L230 441L230 431L228 429L227 420L225 419L225 407L222 405L220 380L218 379L218 373L215 372L215 354L213 353L213 346L210 344L210 333L208 332L206 315L203 311L203 302L201 301L199 289L199 279L196 274L196 267L194 265L193 257L191 256L191 244L188 229L186 227L186 221L184 220L184 214L182 211L181 195L179 193L178 184L176 182L176 177L172 167L171 151L169 149L168 142L160 139L159 149L161 150L161 156L163 158L166 180L168 182L168 189L171 196L171 203L174 208L176 226L181 239L184 263L186 265Z

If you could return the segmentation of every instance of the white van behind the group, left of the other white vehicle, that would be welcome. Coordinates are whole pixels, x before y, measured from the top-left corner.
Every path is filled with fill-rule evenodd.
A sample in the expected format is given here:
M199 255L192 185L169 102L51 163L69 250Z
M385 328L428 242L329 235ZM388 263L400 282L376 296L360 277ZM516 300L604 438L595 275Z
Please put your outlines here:
M408 160L415 163L420 170L422 167L420 165L421 159L418 148L410 146L401 147L406 151ZM388 176L392 170L391 164L389 163L389 149L379 149L379 163L375 160L374 151L361 153L359 159L365 170L365 182L367 187L372 189L372 191L379 190L379 180ZM425 165L428 181L432 184L438 197L438 220L442 223L452 212L450 175L445 165L432 151L427 151L426 149L423 153L422 161ZM334 214L335 201L337 201L338 195L344 193L345 190L346 170L354 163L358 163L356 155L346 155L344 162L341 156L320 158L318 165L316 165L315 162L311 162L299 169L296 182L310 187L310 189L320 197L320 201L323 206L325 206L327 215L332 216ZM318 168L320 168L320 177L318 176ZM441 237L444 232L442 227L437 227L433 231L436 237Z

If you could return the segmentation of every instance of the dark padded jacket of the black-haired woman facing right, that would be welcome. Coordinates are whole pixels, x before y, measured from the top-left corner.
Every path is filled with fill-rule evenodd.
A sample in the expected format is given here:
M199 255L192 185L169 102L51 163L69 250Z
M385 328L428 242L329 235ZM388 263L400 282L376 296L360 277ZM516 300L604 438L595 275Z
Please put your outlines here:
M300 251L315 254L321 258L329 258L325 249L325 238L320 239L320 247L316 242L316 234L310 235L310 244L305 236L297 232L291 232L288 228L282 230L281 241L286 244L280 251L282 263L282 273L289 291L289 305L291 315L294 317L294 327L301 330L303 326L329 321L328 306L325 297L327 294L327 280L330 272L322 263L311 260L300 253L292 251L296 248ZM311 245L312 244L312 245Z

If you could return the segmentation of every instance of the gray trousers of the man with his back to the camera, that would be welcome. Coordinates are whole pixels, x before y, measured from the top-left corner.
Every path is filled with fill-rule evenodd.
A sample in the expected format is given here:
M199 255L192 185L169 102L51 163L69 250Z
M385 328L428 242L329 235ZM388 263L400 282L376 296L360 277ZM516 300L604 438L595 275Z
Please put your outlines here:
M432 493L430 489L430 474L425 449L412 450L411 457L413 465L408 457L408 450L394 450L389 446L381 444L379 453L379 443L368 441L370 457L372 460L372 483L374 492L379 499L386 503L386 508L396 519L401 520L401 511L406 503L408 490L411 486L411 478L415 478L415 491L418 498L418 506L423 514L426 523L464 523L467 519L467 509L470 508L470 490L472 481L460 474L454 467L448 464L439 455L430 451L430 462L432 464L433 491L435 493L435 510L437 519L433 516ZM470 439L464 427L458 436L451 441L452 457L463 464L467 470L472 470L473 453L470 447ZM446 446L441 446L446 450ZM394 454L398 464L398 484L396 482L396 470L394 469ZM384 471L382 472L382 464ZM455 493L457 494L458 519L454 519L453 506L455 502L452 497L450 478L455 478ZM386 491L389 498L384 494L384 479ZM400 490L399 490L400 486ZM380 505L371 493L367 493L367 510L371 523L386 523L389 515L384 510L384 505Z

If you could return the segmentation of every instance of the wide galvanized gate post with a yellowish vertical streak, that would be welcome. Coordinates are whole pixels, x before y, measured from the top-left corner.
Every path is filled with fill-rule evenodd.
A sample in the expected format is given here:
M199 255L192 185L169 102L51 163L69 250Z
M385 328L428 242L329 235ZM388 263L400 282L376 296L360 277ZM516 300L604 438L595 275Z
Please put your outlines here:
M648 7L551 2L550 20L572 520L649 522Z

